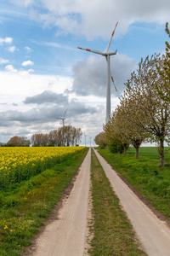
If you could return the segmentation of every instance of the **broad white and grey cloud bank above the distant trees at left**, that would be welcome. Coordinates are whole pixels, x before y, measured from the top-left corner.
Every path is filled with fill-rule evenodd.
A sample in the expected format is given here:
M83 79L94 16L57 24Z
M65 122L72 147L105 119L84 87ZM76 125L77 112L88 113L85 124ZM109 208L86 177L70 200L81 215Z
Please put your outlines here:
M8 69L12 69L12 67L8 66ZM1 88L1 102L6 103L0 105L0 116L3 116L0 141L7 142L9 137L14 135L23 136L22 134L24 134L24 136L31 137L33 133L48 133L57 129L61 124L55 117L62 116L66 108L68 111L65 125L71 122L71 125L75 127L82 127L86 133L91 129L93 134L93 131L99 129L99 126L102 126L102 121L105 120L105 115L102 120L101 108L98 109L97 104L90 107L87 101L82 102L82 100L70 98L70 95L65 95L65 89L68 86L71 87L71 78L23 74L20 71L17 73L0 72L0 77L4 85ZM24 104L23 101L26 101L26 98L38 99L37 96L43 96L45 90L51 91L49 96L62 94L62 97L55 101L53 98L48 100L48 97L44 96L44 101L48 102L48 106L45 105L45 102L38 106ZM62 99L63 102L60 102ZM95 121L99 121L99 126L92 124L91 118L94 116Z

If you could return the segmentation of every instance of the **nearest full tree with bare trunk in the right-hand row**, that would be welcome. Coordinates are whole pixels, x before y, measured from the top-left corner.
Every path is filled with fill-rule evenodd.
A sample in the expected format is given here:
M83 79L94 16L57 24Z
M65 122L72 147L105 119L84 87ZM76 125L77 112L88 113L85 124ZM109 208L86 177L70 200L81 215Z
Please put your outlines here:
M163 86L156 65L161 67L160 55L149 56L139 62L139 69L127 80L127 109L133 109L130 119L138 129L147 134L148 142L159 145L160 166L164 166L164 142L169 143L170 102L164 100L157 87Z

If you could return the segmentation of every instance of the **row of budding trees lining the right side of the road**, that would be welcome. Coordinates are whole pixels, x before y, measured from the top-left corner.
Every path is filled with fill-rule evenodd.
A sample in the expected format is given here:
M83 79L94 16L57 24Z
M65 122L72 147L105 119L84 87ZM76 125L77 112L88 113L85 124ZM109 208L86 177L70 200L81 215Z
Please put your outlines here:
M168 24L166 32L170 37ZM164 166L164 143L170 144L170 45L166 42L165 55L147 56L139 62L139 69L127 80L120 105L104 125L104 132L95 143L122 144L136 149L139 158L141 143L156 142L160 166Z

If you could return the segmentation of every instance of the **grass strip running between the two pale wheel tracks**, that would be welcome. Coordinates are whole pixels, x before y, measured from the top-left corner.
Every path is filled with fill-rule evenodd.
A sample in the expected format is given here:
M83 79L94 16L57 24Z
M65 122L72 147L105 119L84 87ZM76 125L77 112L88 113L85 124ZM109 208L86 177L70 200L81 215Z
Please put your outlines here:
M122 211L94 150L92 150L91 180L94 216L91 230L94 238L90 243L90 255L146 255L139 249L133 227L126 213Z

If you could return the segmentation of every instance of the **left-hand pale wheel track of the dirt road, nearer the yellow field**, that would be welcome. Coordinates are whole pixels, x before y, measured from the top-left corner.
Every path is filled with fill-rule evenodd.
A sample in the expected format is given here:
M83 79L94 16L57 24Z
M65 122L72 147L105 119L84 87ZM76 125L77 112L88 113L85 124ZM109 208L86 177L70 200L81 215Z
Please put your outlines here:
M59 219L49 224L36 242L33 256L81 256L87 227L91 149L82 162L71 195L59 211Z

